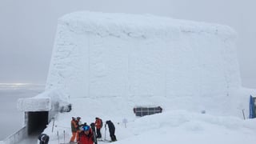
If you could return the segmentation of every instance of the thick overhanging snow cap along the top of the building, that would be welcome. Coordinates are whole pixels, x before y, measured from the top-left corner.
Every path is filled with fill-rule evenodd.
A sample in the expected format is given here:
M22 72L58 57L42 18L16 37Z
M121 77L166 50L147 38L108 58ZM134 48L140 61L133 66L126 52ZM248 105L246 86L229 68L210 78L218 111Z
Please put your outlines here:
M143 35L157 34L158 37L166 37L165 34L173 34L175 30L184 33L222 34L226 37L234 37L235 35L234 30L229 26L178 20L150 14L107 14L81 11L66 14L59 18L58 22L69 26L70 30L77 33L92 32L102 36L128 34L134 37L143 37Z

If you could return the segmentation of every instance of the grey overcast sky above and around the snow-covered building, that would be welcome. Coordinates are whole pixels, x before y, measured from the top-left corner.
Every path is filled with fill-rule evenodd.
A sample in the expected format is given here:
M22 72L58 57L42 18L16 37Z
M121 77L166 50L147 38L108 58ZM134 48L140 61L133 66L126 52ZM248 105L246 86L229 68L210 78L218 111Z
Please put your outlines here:
M242 85L256 88L255 0L1 0L0 83L46 82L58 18L77 10L156 14L238 32Z

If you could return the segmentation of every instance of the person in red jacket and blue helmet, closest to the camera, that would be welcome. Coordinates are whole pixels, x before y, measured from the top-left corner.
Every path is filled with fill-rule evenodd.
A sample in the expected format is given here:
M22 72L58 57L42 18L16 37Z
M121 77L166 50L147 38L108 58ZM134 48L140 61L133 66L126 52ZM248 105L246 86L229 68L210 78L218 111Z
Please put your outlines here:
M83 126L83 130L79 133L78 144L94 144L94 134L90 126Z

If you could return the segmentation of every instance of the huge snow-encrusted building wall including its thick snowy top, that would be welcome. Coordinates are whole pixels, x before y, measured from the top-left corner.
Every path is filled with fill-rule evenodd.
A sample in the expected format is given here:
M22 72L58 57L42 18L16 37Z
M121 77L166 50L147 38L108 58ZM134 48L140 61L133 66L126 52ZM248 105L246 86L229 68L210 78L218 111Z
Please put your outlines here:
M59 19L46 90L77 97L222 98L241 87L228 26L152 15Z

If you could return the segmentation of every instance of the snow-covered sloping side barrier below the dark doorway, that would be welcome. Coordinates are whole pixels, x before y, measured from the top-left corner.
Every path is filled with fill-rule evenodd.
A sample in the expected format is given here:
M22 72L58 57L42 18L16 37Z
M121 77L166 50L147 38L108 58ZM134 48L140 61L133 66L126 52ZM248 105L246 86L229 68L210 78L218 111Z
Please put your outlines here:
M3 140L4 144L15 144L27 137L26 126Z

